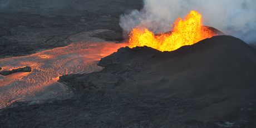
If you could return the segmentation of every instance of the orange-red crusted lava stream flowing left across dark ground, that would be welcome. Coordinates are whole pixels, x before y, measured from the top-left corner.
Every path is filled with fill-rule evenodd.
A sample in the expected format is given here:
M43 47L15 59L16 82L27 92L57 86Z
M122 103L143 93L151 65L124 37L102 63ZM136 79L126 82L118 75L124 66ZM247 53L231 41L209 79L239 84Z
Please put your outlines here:
M0 108L14 101L45 100L49 97L67 97L70 91L58 83L58 77L70 73L100 71L96 63L126 44L117 43L72 43L30 56L0 59L4 70L30 66L30 73L0 75ZM60 95L61 94L61 95Z

